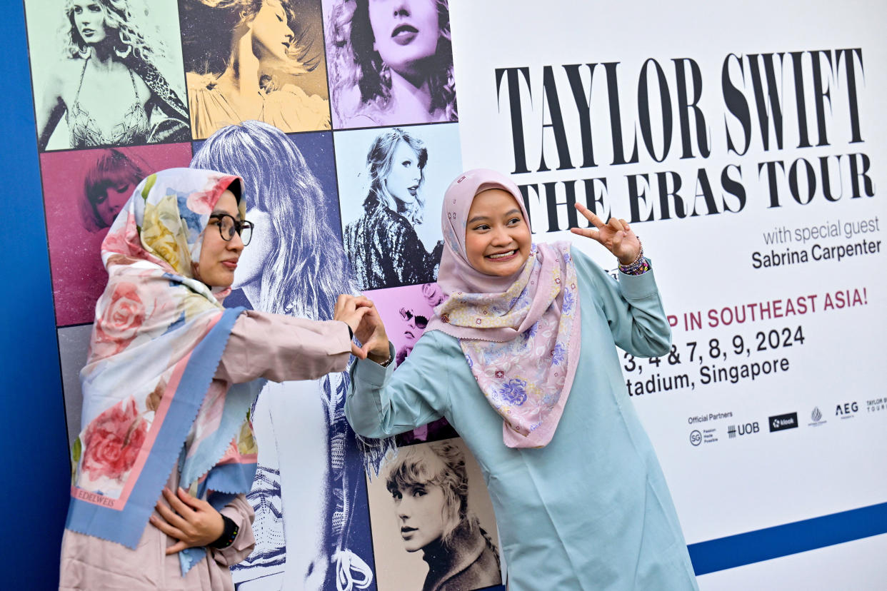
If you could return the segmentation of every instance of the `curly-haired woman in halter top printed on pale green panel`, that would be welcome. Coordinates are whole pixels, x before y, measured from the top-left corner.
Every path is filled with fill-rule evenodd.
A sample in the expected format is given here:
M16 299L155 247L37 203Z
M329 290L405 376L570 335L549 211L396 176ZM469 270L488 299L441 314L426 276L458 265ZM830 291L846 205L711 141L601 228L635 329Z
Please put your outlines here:
M187 140L184 103L157 65L167 60L164 44L137 26L139 11L127 0L66 0L64 12L63 58L37 101L38 148L49 147L62 118L67 142L59 137L54 148Z

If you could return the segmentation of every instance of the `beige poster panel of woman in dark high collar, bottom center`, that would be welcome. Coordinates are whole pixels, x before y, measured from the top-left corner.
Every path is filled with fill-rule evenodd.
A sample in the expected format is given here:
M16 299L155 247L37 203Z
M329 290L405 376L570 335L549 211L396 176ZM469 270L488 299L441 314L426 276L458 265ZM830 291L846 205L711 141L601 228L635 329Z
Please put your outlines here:
M490 494L462 439L399 447L367 491L379 591L504 588Z

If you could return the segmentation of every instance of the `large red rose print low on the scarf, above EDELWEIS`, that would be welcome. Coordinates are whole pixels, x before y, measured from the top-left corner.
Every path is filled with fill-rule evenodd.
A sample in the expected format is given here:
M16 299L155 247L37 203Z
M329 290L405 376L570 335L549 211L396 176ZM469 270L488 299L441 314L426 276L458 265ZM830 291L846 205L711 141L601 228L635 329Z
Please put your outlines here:
M108 408L83 433L82 470L93 480L106 477L122 483L136 463L147 432L148 424L135 400Z

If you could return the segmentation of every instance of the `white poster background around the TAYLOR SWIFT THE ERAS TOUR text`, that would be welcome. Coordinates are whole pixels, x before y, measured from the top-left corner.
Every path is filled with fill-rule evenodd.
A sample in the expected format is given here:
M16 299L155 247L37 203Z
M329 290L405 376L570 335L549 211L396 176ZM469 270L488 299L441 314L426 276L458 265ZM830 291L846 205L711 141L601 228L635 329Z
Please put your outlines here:
M650 393L633 400L647 427L650 438L668 478L671 494L678 509L688 543L712 540L736 533L795 522L811 517L865 507L887 501L887 470L880 459L887 444L887 412L869 411L867 401L887 394L887 369L883 362L883 335L887 331L887 280L883 273L884 251L845 258L842 261L813 261L781 265L775 268L752 268L754 252L769 254L806 250L808 257L814 243L821 246L848 245L862 239L887 243L887 206L879 194L885 183L883 170L887 162L887 127L881 113L887 97L887 43L883 41L883 4L811 2L763 2L742 5L716 5L702 0L677 3L574 3L553 0L544 4L515 0L486 0L483 3L453 0L451 7L454 62L459 83L459 133L462 160L466 168L490 167L503 172L515 168L513 137L508 107L508 89L503 76L497 90L496 68L527 67L530 73L530 95L522 75L519 76L530 173L513 175L516 183L541 183L606 177L607 202L612 214L629 218L630 206L626 175L645 173L650 176L646 209L659 207L655 173L679 173L683 187L679 194L687 209L693 207L696 171L708 171L712 192L721 203L721 171L727 165L742 167L742 185L746 203L738 213L706 215L703 200L697 205L696 217L674 217L662 220L655 214L654 222L633 225L644 241L645 250L654 261L657 284L663 295L666 313L675 315L679 324L673 339L682 362L668 367L663 358L662 369L648 365L644 373L626 378L651 377L687 373L695 387ZM805 105L808 134L812 147L797 148L799 127L795 108L795 86L789 56L784 72L777 68L782 100L784 136L782 149L775 146L770 131L770 150L762 146L757 120L750 64L746 54L768 52L832 50L860 48L862 65L856 65L856 87L859 100L862 143L850 144L851 126L844 60L836 74L823 74L830 89L830 108L826 105L828 145L817 147L818 133L812 97L812 66L809 54L802 58L805 80ZM727 111L721 90L722 66L734 53L743 57L744 73L736 61L730 66L733 83L742 90L750 109L751 142L748 152L740 156L727 152L726 128L734 143L742 141L736 118ZM483 56L483 58L479 58ZM662 66L671 97L673 136L671 151L663 162L655 162L648 154L638 123L638 83L641 67L648 58ZM710 143L710 157L699 156L695 139L695 123L691 122L695 158L681 159L680 126L677 113L678 95L675 66L672 59L692 58L702 75L702 94L698 102L703 111ZM635 143L639 162L612 166L610 118L608 111L605 62L619 62L618 90L622 115L622 133L626 156ZM591 121L594 157L597 167L579 168L582 164L579 118L562 65L598 63L591 85ZM823 63L826 63L823 60ZM543 66L552 66L558 90L564 127L569 140L569 155L575 168L556 170L560 161L555 149L550 108L543 100ZM833 66L834 67L834 66ZM862 71L864 70L864 72ZM589 88L588 68L580 70L586 93ZM655 70L651 70L651 73ZM743 75L744 74L744 75ZM763 69L762 69L762 77ZM651 127L654 145L661 154L662 118L655 74L650 75ZM687 82L690 86L691 82ZM530 106L531 96L531 106ZM691 93L692 96L692 93ZM586 99L588 95L586 94ZM692 118L691 118L692 121ZM772 120L771 120L772 126ZM658 136L656 136L658 130ZM545 159L551 171L537 172L540 144L545 145ZM874 197L850 198L848 158L841 159L844 197L828 202L822 196L821 182L812 201L799 205L789 195L785 175L780 175L781 206L768 207L769 192L766 171L758 175L760 162L782 160L786 169L797 158L820 166L820 156L862 152L870 159L867 175L874 183ZM835 161L834 158L831 159ZM834 166L834 165L833 165ZM836 175L836 172L833 173ZM834 177L833 177L834 178ZM819 181L819 179L818 179ZM584 202L581 182L577 197ZM804 185L802 182L802 191ZM564 201L562 186L559 200ZM833 186L833 192L837 192ZM737 200L727 195L726 202L734 209ZM723 207L720 207L723 209ZM579 239L568 232L547 233L545 202L530 192L530 216L535 239L544 241L570 239L589 253L604 268L616 266L612 257L593 241ZM559 206L560 226L566 227L566 206ZM775 228L789 230L819 226L840 220L858 222L878 218L880 231L851 239L829 237L802 245L765 245L764 233ZM865 291L863 292L863 288ZM860 290L864 304L824 309L827 293ZM816 294L816 311L805 315L789 315L757 322L710 328L706 312L710 308L742 306ZM809 302L808 302L809 303ZM685 312L701 311L703 328L684 328ZM770 330L801 326L803 345L777 346L763 352L755 351L756 333L765 337ZM748 355L734 355L732 339L741 335ZM789 370L761 376L737 384L702 385L699 355L708 354L709 341L718 338L727 359L705 358L705 364L727 368L742 363L788 359ZM688 362L688 342L698 343L695 362ZM641 360L638 360L641 362ZM840 405L856 403L857 411L847 418L836 416ZM824 424L811 426L814 408L819 408ZM877 408L877 405L875 405ZM780 432L769 432L768 417L797 412L799 426ZM704 423L690 424L691 417L718 413L731 416ZM730 438L729 425L754 424L758 431ZM716 429L710 437L691 445L691 432Z

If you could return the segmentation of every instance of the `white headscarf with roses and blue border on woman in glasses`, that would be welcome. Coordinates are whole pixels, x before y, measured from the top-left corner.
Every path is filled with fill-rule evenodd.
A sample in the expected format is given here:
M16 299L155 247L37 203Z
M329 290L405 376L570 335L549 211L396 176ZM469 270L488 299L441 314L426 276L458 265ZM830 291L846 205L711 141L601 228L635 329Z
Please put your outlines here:
M80 375L67 529L136 548L171 470L216 509L252 485L247 413L260 384L213 380L243 308L224 309L230 288L195 276L209 214L239 188L233 175L163 170L139 183L108 231L108 284ZM203 552L179 553L183 574Z

